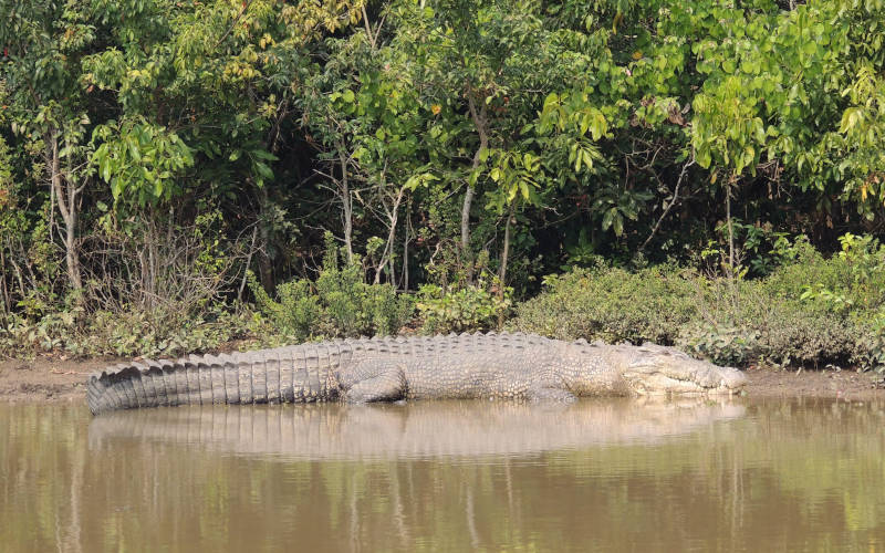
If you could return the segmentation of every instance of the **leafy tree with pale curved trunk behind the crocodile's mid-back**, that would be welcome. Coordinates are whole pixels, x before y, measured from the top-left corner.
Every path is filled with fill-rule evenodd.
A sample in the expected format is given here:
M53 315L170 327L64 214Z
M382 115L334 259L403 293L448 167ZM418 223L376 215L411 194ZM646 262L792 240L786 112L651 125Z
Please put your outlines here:
M541 83L555 67L538 9L519 1L445 0L396 11L395 45L413 60L413 80L425 102L437 106L431 133L457 145L436 155L446 167L439 177L464 189L459 249L468 281L472 204L489 179L489 152L508 149L519 137L543 97Z

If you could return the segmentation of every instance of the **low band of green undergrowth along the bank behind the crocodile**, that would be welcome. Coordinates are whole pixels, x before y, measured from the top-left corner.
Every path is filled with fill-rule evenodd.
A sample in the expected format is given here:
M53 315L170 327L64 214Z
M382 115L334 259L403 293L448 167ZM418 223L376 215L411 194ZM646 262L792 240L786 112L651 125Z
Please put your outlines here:
M342 263L329 243L316 280L268 294L251 274L254 305L167 302L154 310L98 310L72 303L0 326L0 355L170 356L235 340L275 346L337 336L472 332L506 327L545 336L676 345L717 364L857 367L885 373L885 248L846 234L824 258L806 240L781 241L778 267L759 279L710 276L676 265L626 270L596 262L550 275L535 298L481 273L472 284L425 285L416 295L367 284L357 259Z

